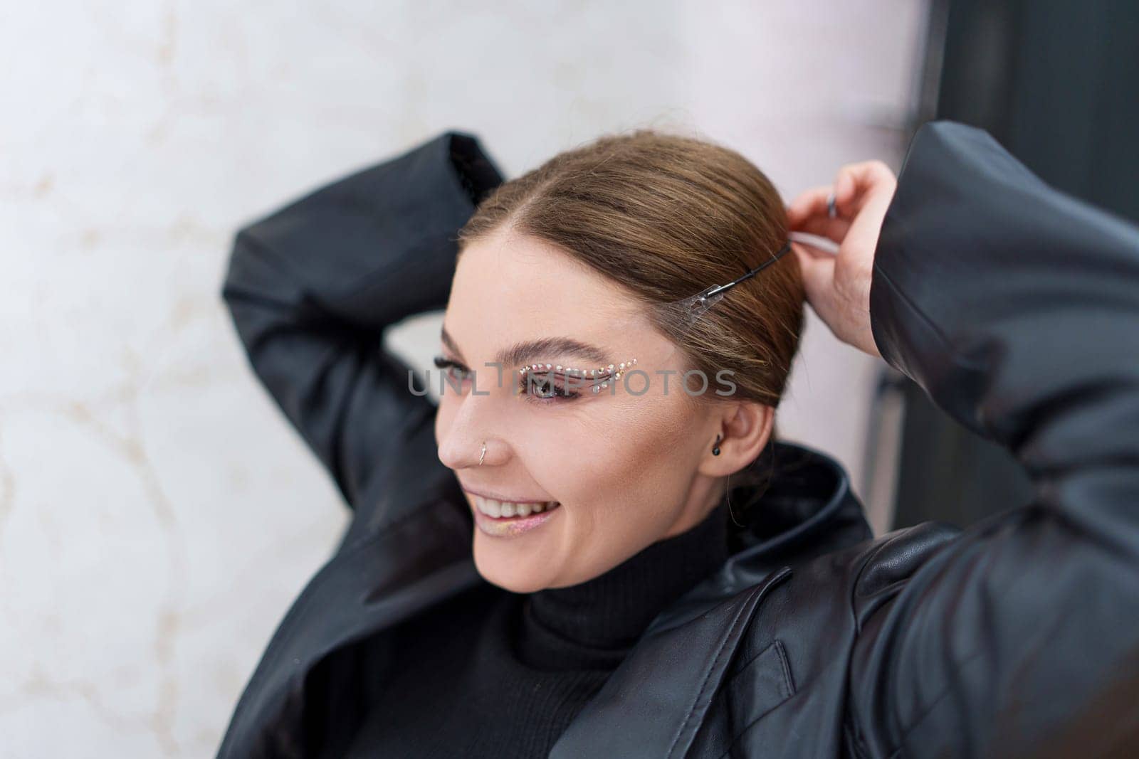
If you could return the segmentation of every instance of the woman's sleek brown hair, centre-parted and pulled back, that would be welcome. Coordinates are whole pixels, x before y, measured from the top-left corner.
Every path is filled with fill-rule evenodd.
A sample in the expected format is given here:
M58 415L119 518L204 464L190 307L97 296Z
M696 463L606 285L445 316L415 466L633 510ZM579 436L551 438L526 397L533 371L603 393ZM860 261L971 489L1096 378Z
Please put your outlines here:
M779 193L737 151L647 129L605 135L499 185L460 230L460 249L503 224L623 284L710 387L731 370L734 399L778 406L803 329L793 254L731 288L689 329L663 307L735 280L787 240Z

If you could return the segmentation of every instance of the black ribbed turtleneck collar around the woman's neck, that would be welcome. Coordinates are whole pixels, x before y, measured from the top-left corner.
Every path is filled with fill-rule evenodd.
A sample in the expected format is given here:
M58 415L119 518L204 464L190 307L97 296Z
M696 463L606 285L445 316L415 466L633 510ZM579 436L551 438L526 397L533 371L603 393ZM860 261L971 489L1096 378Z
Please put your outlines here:
M728 559L728 509L657 541L604 575L525 596L518 654L543 669L607 668L672 601Z

